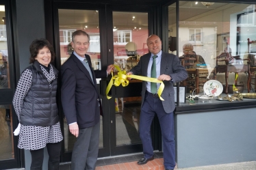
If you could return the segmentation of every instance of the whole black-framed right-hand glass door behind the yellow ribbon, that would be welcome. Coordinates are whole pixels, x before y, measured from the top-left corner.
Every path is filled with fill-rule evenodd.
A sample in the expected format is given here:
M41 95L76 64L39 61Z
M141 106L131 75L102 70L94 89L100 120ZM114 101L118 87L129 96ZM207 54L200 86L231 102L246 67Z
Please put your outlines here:
M120 70L129 72L149 50L146 40L154 31L153 8L134 5L107 5L107 55ZM115 70L114 74L117 74ZM127 87L112 86L110 105L111 155L142 152L140 126L142 81L131 80ZM159 124L154 119L151 137L159 149Z

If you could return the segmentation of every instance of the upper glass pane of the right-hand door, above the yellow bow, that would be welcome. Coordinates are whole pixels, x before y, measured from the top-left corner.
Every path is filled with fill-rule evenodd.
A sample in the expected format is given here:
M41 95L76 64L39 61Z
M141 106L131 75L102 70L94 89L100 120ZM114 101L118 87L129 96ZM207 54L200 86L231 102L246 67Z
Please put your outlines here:
M113 12L114 64L129 72L142 55L149 53L148 37L147 13Z

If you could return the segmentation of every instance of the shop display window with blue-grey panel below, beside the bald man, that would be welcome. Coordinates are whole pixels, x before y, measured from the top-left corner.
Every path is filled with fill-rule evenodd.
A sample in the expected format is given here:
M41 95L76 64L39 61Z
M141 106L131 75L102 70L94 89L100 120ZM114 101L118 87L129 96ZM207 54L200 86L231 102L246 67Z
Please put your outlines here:
M255 7L227 1L166 7L166 51L188 71L175 112L179 168L256 158Z

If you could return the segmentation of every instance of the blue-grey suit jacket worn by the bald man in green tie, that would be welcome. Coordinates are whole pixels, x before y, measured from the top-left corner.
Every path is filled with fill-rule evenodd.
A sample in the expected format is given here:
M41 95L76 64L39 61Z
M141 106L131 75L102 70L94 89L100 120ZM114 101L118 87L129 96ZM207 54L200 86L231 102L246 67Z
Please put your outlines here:
M149 66L149 59L151 53L143 55L140 57L140 61L137 66L131 69L131 72L135 75L147 76L147 70ZM172 81L164 81L164 91L162 92L162 101L164 111L166 113L171 113L175 110L175 91L173 89L173 84L187 79L188 72L179 61L179 57L169 53L162 52L161 66L160 66L160 75L166 74L172 77ZM144 102L144 97L146 93L146 81L142 82L142 105Z

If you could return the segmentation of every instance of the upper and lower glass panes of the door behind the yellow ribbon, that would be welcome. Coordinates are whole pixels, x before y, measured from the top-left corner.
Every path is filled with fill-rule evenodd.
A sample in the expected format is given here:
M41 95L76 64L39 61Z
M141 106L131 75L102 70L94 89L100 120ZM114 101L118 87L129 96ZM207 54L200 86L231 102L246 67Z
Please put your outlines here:
M129 72L137 65L140 57L149 50L146 39L149 37L148 12L112 11L112 51L114 64ZM117 74L115 70L114 74ZM142 152L142 142L138 132L140 124L142 81L131 80L127 87L114 87L114 103L110 106L113 122L112 155Z

